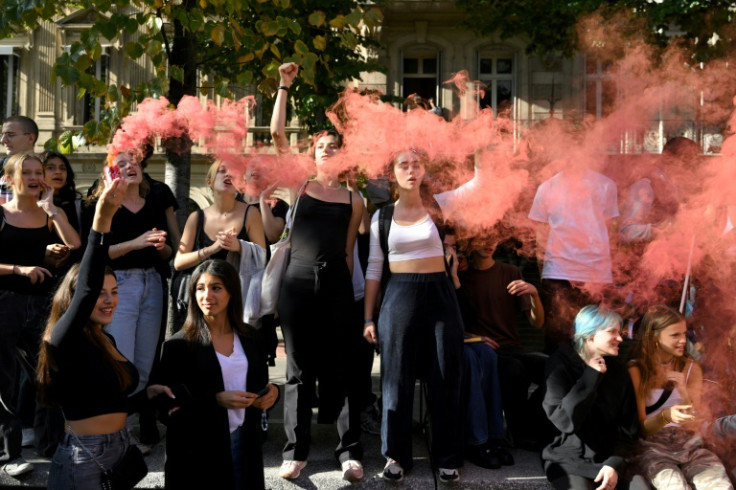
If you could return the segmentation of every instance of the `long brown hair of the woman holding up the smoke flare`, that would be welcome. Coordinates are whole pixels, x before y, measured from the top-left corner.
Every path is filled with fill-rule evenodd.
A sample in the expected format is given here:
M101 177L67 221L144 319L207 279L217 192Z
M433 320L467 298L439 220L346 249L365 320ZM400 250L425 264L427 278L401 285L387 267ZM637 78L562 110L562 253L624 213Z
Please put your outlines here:
M105 267L105 276L115 277L115 273L108 266ZM38 369L36 370L36 378L38 380L39 396L41 401L47 405L55 403L54 387L51 380L51 374L54 371L58 371L59 367L53 358L53 355L49 349L47 340L51 337L51 332L54 331L56 323L59 321L61 316L69 309L69 305L72 302L74 292L77 290L77 281L79 279L79 264L71 266L69 271L64 276L64 279L59 283L54 293L54 299L51 303L51 313L49 314L48 322L46 323L46 329L44 330L41 349L38 356ZM95 326L92 322L87 320L87 323L82 328L82 332L90 341L90 343L102 352L102 357L105 362L112 367L115 372L115 376L118 378L120 384L120 391L125 391L130 387L133 382L130 377L130 373L125 369L123 363L118 362L113 357L112 344L105 338L105 334L99 326Z

